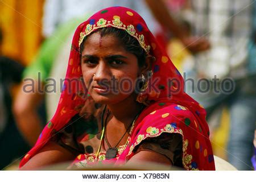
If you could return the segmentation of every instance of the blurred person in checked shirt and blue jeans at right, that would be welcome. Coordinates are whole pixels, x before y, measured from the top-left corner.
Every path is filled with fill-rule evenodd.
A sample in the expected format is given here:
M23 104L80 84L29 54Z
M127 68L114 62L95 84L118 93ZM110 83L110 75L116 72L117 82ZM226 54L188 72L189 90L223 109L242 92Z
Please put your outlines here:
M201 84L199 92L188 81L187 93L199 101L208 111L227 105L230 112L228 161L237 169L250 170L253 155L253 138L256 118L255 55L249 53L255 46L252 39L255 20L255 1L251 0L195 0L191 1L192 35L206 36L210 41L209 51L195 55L194 69L187 68L187 78L207 78L210 88ZM254 52L255 53L255 52ZM251 55L251 56L250 56ZM214 76L217 86L213 84ZM221 81L230 77L225 93L220 90ZM187 83L186 83L187 84ZM203 85L203 86L202 86ZM233 89L230 89L233 86ZM193 89L193 90L192 90Z

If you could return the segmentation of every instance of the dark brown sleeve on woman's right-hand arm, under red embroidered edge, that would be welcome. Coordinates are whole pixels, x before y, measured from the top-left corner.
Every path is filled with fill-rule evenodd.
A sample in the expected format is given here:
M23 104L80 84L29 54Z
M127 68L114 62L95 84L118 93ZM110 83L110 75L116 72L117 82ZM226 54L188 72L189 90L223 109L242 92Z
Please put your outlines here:
M154 151L166 156L174 166L182 165L182 137L180 134L163 133L159 137L147 138L134 148L135 154L139 151Z

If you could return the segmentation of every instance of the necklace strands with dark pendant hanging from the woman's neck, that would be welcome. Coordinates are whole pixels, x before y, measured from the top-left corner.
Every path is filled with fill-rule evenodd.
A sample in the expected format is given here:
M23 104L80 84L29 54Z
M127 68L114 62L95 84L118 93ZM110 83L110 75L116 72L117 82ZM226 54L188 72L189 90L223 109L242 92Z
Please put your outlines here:
M142 109L143 109L143 107L142 107ZM142 111L142 109L141 109L141 111ZM108 117L109 117L109 110L108 110L108 113L107 113L107 115L106 115L106 118L105 118L105 125L104 125L104 114L105 114L105 111L106 111L106 106L104 107L104 110L103 110L103 112L102 112L102 114L101 114L101 126L103 126L103 127L102 127L102 133L101 133L100 147L98 147L98 151L97 151L97 153L96 153L96 158L98 158L98 155L100 154L100 150L101 150L103 138L106 138L106 137L104 137L104 134L105 134L105 128L106 128L106 120L107 120ZM131 125L127 128L125 134L127 133L127 131L129 130L130 127L133 127L133 125L134 125L135 121L137 120L137 118L138 118L139 114L141 113L141 111L137 114L137 116L135 117L134 121L133 121L133 122L131 123ZM123 134L122 138L125 136L125 134ZM115 158L115 157L117 156L117 151L118 151L118 149L117 149L116 147L117 147L117 145L121 142L122 138L121 138L121 139L119 140L119 142L115 145L115 147L111 147L110 144L109 144L109 142L108 142L108 140L106 139L106 143L107 143L108 146L109 146L109 149L108 149L107 152L106 152L106 159L113 159L113 158ZM127 143L128 143L128 139L127 139L127 141L126 141L126 143L125 143L125 147L126 147ZM108 158L107 158L107 156L108 156Z

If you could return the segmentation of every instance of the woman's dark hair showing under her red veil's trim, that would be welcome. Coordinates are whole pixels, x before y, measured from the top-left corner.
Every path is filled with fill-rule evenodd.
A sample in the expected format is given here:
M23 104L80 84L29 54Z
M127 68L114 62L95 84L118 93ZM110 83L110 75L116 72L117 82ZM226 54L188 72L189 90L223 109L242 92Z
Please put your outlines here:
M141 47L139 41L133 36L129 35L125 30L114 27L104 27L98 28L98 30L94 31L93 33L95 32L100 32L101 36L114 35L123 44L127 52L133 53L137 57L139 67L142 67L145 64L147 55L146 51ZM82 53L82 50L84 49L86 38L88 38L90 35L86 36L82 41L80 45L80 53Z

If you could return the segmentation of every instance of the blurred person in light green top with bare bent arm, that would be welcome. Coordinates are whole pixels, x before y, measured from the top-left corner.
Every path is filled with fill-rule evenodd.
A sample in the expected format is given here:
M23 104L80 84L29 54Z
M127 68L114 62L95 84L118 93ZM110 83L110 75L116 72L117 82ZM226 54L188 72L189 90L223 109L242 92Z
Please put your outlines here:
M53 110L56 109L54 108L56 103L52 101L53 106L46 104L47 119L40 117L38 114L38 107L44 101L46 91L52 90L52 92L48 92L49 95L56 96L57 94L57 97L60 96L60 81L57 78L65 77L64 69L67 67L67 61L63 59L55 63L55 59L59 55L65 54L62 49L67 43L71 42L68 38L70 34L73 34L78 21L79 19L72 19L59 26L55 33L42 44L35 60L23 72L23 82L15 99L14 113L20 132L31 146L35 144L49 115L52 116L49 114L52 107ZM56 68L59 68L59 70L53 69L54 64L58 64ZM51 77L52 72L58 77ZM48 78L55 78L55 88L44 87ZM52 82L48 81L48 84L52 84Z

